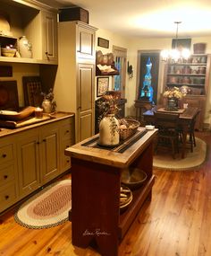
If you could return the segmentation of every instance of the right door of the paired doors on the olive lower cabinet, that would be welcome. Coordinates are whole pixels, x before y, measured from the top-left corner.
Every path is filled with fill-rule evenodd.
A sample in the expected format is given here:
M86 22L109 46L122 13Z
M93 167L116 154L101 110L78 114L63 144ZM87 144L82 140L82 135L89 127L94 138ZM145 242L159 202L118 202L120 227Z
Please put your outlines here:
M56 124L46 125L41 130L40 159L41 181L46 183L59 175L59 131Z

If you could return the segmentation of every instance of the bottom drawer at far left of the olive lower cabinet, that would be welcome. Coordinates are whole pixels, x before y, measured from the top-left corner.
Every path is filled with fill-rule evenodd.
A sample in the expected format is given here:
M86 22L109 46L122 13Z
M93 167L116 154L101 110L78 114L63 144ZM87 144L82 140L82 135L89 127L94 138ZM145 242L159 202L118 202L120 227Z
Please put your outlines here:
M15 184L12 183L0 190L0 212L11 207L16 199Z

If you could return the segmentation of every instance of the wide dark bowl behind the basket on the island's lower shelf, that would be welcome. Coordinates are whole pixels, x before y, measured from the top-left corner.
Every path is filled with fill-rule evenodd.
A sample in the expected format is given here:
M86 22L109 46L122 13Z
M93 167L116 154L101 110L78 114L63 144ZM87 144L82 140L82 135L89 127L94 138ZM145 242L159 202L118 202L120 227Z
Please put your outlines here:
M122 170L121 181L131 190L135 190L142 186L147 177L147 173L139 168L129 167Z

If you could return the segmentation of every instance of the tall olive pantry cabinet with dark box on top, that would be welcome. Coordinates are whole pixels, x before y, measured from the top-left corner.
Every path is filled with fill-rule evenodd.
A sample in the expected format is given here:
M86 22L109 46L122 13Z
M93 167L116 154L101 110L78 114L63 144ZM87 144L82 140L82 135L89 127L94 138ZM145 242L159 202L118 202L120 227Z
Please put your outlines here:
M58 22L57 109L75 112L76 142L94 135L95 37L83 22Z

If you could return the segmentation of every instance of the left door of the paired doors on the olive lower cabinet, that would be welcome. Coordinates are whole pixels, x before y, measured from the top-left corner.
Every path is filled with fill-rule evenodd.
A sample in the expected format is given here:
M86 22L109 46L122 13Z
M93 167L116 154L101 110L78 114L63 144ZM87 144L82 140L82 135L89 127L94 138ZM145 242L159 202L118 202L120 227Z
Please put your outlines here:
M19 136L17 142L19 190L27 196L39 186L39 138L38 130L32 129Z

